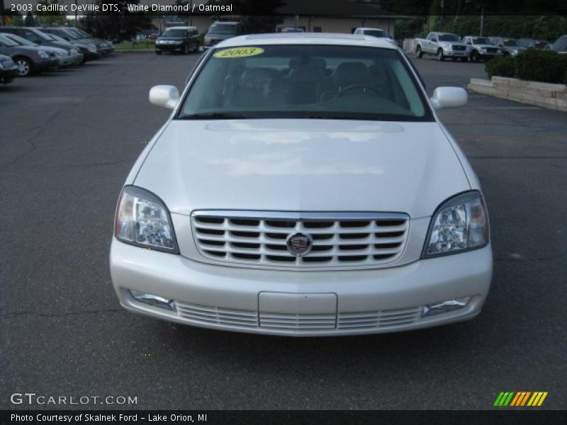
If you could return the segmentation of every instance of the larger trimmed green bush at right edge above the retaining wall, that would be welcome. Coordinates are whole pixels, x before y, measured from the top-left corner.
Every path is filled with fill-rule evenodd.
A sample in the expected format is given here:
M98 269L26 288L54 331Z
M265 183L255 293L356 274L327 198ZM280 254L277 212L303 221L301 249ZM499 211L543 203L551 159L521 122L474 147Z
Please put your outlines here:
M528 49L516 57L516 77L526 81L563 84L567 55L552 50Z

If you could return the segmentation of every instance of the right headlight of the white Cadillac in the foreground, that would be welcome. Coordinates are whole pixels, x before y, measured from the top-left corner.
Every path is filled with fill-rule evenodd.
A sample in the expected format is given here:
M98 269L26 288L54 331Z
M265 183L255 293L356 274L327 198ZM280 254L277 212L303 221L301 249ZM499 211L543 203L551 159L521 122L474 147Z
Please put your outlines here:
M481 193L461 193L437 208L422 258L482 248L488 244L488 234L488 212Z

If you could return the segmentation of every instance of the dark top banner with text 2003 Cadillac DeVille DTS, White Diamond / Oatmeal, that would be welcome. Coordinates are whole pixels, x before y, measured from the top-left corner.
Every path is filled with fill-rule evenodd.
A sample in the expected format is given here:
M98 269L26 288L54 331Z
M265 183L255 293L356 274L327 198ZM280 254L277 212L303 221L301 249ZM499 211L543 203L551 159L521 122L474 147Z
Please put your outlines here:
M567 2L555 0L0 0L0 5L2 2L7 15L567 15Z

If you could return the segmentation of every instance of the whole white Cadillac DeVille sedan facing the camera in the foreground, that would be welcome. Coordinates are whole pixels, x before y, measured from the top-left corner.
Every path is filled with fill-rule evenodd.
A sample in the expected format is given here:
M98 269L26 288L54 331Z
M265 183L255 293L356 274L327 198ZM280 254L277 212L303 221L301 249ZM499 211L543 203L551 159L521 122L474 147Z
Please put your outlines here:
M211 329L373 334L471 319L490 287L476 174L398 48L364 35L225 40L120 193L127 310Z

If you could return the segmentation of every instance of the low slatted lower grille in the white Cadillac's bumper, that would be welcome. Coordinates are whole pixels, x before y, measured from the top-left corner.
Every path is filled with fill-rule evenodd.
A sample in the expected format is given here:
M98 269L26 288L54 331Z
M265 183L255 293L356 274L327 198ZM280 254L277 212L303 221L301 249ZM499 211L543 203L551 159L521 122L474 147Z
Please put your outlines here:
M217 324L236 328L262 328L294 333L309 331L366 331L385 329L417 322L422 307L339 314L283 314L254 310L232 310L220 307L175 302L177 314L196 324Z

